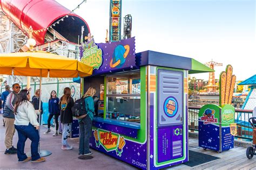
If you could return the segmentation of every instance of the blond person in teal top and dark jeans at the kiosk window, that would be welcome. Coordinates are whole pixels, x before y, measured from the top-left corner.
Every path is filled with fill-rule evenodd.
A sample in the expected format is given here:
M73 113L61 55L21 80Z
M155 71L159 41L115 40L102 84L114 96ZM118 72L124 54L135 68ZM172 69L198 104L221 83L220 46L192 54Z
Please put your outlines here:
M92 152L89 150L89 140L92 132L92 119L95 112L92 96L96 94L96 89L90 87L83 98L85 100L85 109L87 114L78 116L79 122L79 155L89 155Z

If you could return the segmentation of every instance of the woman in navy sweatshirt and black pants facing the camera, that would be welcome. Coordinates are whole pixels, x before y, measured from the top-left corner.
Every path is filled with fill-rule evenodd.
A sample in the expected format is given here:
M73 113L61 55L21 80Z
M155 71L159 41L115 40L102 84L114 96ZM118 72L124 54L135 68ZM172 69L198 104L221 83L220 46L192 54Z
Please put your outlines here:
M49 117L47 121L48 129L44 132L44 134L48 134L51 129L51 119L54 116L55 118L55 126L56 126L56 131L52 136L57 136L58 135L58 128L59 128L59 123L58 123L58 118L59 118L59 98L57 97L57 93L55 90L51 91L51 96L49 99Z

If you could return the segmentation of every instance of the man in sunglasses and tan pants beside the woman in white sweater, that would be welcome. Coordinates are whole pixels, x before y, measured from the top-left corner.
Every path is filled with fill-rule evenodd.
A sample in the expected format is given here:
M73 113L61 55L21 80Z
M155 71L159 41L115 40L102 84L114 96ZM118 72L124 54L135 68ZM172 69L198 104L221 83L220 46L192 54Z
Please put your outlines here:
M4 105L4 124L5 124L5 138L4 144L6 146L6 150L4 154L16 154L17 148L12 146L12 139L14 138L15 128L14 128L14 105L18 99L19 91L21 90L21 86L18 83L12 84L12 92L6 97L6 102Z

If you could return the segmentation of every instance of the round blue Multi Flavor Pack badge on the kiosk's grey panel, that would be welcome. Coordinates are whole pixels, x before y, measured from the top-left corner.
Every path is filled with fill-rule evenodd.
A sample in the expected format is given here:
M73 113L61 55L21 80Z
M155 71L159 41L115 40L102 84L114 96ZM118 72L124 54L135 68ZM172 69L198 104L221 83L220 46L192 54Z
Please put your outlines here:
M164 112L168 117L173 117L178 112L178 102L174 97L166 98L164 102Z

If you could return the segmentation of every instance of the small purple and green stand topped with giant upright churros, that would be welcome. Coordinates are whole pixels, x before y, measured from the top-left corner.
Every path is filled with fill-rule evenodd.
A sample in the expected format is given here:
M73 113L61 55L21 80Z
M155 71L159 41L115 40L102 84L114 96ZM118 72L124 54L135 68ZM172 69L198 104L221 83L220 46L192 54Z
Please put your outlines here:
M226 72L220 74L220 105L206 104L199 110L198 140L199 146L217 152L234 147L234 107L231 105L235 75L228 65Z

